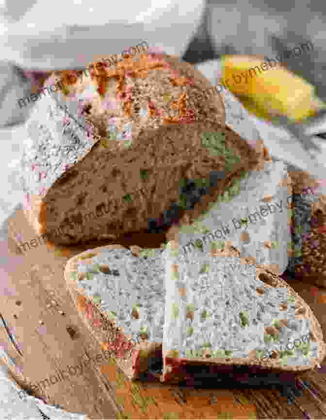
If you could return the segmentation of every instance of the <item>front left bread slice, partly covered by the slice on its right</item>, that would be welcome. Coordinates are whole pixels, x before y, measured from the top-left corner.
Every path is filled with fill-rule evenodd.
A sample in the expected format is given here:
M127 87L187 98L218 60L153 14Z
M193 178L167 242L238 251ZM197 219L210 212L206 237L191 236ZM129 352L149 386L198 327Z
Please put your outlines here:
M65 267L79 315L130 379L162 360L162 251L143 250L138 257L120 245L107 245L76 255Z

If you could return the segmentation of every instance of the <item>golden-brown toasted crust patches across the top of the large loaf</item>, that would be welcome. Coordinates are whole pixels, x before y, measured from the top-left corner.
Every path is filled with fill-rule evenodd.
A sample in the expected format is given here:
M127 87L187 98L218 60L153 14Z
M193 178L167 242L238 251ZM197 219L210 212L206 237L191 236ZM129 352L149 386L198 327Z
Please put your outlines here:
M148 70L158 70L158 69L170 69L172 70L170 76L170 86L180 87L182 86L185 88L184 92L187 92L189 96L188 100L185 99L185 93L179 97L179 100L174 101L169 105L166 106L166 101L162 100L162 93L161 90L155 90L155 86L151 86L152 84L157 84L157 81L150 81L148 83L147 89L143 93L140 94L140 100L146 99L147 96L150 96L150 99L155 99L155 102L160 104L160 107L167 111L167 115L170 115L171 109L175 109L178 111L178 116L175 113L172 113L169 117L163 118L163 125L164 124L179 124L181 123L181 119L183 118L190 118L191 121L192 112L189 114L186 111L192 110L196 114L196 110L201 110L208 115L205 117L205 121L211 121L213 123L219 123L222 126L225 125L225 107L222 101L222 97L219 93L213 93L212 91L208 90L212 88L209 80L206 79L200 71L196 70L193 65L180 61L177 56L171 56L162 54L160 56L151 55L147 53L139 54L137 57L132 56L125 56L116 66L108 66L107 63L93 63L90 66L90 76L81 78L81 73L78 71L65 71L65 72L57 72L55 73L56 77L60 78L60 82L63 85L64 89L63 92L66 94L71 93L72 90L79 89L83 86L84 83L94 83L98 93L104 97L105 94L117 94L117 95L124 95L125 88L126 88L126 75L130 74L132 78L135 79L146 79L148 76ZM81 84L81 86L80 86ZM196 96L196 90L194 91L190 86L196 87L198 89L198 93L200 91L205 91L205 95L199 95L200 100L198 99L199 96ZM116 88L114 88L116 87ZM149 88L149 90L148 90ZM166 87L167 88L167 87ZM158 93L154 94L154 93ZM144 97L142 95L145 95ZM120 115L118 113L116 116L121 117L128 117L131 122L133 119L133 112L131 111L132 103L135 100L135 97L132 95L127 95L128 98L124 99L124 115ZM138 99L137 99L138 100ZM190 105L191 104L191 105ZM93 104L94 109L97 109L97 105ZM155 107L150 109L151 117L156 115ZM101 121L101 118L97 115L97 112L93 114L90 113L89 118L92 120L94 118L93 123L98 125ZM197 115L199 119L203 120L203 116ZM197 118L196 118L197 119ZM150 121L150 120L149 120ZM144 130L146 128L150 128L151 125L147 122L147 126L143 127ZM102 121L105 125L105 121ZM101 124L100 124L101 125ZM158 124L154 124L156 127L162 125L162 121ZM99 134L99 133L98 133Z

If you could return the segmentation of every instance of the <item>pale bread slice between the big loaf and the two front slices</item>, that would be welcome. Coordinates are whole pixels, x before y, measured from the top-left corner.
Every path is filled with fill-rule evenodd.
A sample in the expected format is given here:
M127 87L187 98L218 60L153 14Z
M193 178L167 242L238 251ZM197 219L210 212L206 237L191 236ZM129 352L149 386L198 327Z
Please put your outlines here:
M204 197L202 202L205 200L212 197ZM242 257L253 257L258 264L282 274L288 265L291 202L286 164L264 160L260 168L233 180L217 200L210 201L208 210L198 208L192 217L186 214L179 229L172 227L167 238L178 241L184 253L195 247L208 252L212 242L228 241Z

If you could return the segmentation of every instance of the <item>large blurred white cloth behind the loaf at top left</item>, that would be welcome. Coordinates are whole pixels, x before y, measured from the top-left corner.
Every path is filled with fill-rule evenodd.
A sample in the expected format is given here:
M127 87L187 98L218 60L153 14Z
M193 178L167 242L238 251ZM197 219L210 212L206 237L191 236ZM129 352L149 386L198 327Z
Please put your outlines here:
M3 18L0 57L30 70L82 67L142 41L181 56L204 11L204 0L38 0L19 16L25 2L10 2L18 18Z

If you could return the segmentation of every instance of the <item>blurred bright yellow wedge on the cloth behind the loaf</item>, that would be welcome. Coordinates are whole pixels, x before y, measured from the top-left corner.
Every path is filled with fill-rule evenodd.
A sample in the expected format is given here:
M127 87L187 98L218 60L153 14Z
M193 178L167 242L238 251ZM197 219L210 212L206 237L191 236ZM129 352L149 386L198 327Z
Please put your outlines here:
M260 57L225 55L221 79L249 112L269 121L285 115L298 122L326 107L310 83L274 59L264 62Z

